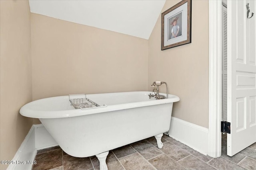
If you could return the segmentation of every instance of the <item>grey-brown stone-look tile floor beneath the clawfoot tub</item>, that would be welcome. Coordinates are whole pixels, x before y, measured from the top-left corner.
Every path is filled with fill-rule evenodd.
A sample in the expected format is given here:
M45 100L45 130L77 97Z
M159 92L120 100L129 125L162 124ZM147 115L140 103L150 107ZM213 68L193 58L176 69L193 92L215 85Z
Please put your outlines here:
M158 149L156 139L148 139L111 150L109 170L256 170L256 143L230 157L226 155L226 136L222 137L222 155L211 158L168 137ZM99 170L96 156L76 158L60 147L38 150L32 170Z

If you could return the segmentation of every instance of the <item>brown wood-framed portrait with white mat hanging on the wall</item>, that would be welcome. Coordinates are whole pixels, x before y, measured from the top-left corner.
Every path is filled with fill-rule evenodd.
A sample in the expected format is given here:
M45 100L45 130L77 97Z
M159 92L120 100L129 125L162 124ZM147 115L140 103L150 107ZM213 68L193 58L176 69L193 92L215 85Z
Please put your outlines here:
M161 50L191 43L191 0L162 13Z

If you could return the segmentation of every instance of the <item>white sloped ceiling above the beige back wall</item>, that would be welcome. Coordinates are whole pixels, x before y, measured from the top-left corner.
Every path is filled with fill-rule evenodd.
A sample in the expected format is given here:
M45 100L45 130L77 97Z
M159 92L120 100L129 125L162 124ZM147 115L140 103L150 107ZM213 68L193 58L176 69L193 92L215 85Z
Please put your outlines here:
M29 0L30 11L149 39L166 0Z

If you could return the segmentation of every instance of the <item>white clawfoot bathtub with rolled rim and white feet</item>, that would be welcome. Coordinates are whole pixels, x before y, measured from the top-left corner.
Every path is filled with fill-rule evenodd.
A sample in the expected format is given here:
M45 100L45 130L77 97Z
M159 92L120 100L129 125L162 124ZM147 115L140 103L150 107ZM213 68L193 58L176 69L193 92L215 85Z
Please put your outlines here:
M170 128L173 102L180 98L149 99L150 92L87 94L102 107L74 109L69 96L36 100L20 114L39 118L58 145L71 156L96 155L100 169L107 169L108 151L155 136L162 148L162 133ZM164 94L162 94L164 95Z

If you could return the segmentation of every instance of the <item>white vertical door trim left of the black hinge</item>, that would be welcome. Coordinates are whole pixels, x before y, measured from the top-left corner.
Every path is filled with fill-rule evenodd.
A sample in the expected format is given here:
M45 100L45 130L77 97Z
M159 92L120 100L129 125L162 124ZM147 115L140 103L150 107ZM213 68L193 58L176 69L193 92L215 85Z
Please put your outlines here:
M209 136L208 155L221 155L222 1L209 0Z

